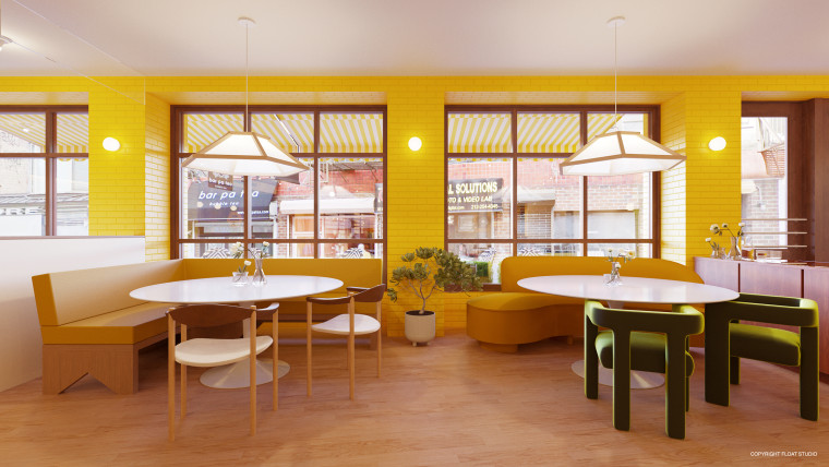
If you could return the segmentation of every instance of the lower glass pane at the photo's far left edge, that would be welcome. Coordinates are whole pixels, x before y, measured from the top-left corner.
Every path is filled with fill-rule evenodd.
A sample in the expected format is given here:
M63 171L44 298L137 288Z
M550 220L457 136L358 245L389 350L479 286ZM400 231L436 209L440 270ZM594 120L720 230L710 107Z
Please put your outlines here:
M46 235L43 158L0 158L0 236Z

